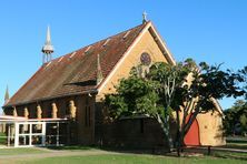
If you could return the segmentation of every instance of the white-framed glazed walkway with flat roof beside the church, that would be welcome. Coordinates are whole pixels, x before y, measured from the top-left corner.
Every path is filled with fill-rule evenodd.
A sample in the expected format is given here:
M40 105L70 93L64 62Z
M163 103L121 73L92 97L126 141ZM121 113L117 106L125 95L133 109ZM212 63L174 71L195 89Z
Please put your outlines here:
M27 119L0 115L0 124L2 134L6 134L6 136L1 136L6 137L6 146L59 146L67 143L67 119ZM1 139L1 141L4 140Z

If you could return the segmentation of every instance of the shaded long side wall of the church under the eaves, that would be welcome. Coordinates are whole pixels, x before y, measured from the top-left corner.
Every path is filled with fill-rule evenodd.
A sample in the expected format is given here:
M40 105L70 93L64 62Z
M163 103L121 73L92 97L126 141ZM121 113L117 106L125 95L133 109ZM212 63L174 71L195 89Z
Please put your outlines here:
M90 106L90 114L89 114L89 123L90 126L85 124L85 114L86 114L86 99L88 99L87 106ZM69 101L73 100L75 105L77 107L77 116L76 122L71 123L70 133L71 135L71 144L93 144L95 136L95 121L93 121L93 113L95 113L95 96L88 95L76 95L76 96L67 96L67 98L59 98L55 100L41 101L38 103L30 103L26 105L16 106L17 113L19 116L23 116L24 107L28 107L29 111L29 119L37 119L37 105L39 104L42 109L42 117L51 117L51 103L56 103L58 107L58 117L66 117L69 114ZM6 114L12 115L12 107L4 109Z

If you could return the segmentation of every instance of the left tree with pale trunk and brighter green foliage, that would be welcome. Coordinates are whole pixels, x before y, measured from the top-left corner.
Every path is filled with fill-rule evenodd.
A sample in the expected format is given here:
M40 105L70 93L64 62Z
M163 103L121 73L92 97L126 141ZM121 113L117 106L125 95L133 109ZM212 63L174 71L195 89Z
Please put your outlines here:
M149 73L144 65L134 68L130 76L120 81L117 93L106 96L109 106L109 115L112 119L137 114L147 114L157 120L169 143L174 147L170 134L170 117L174 111L171 106L181 104L181 100L175 96L186 82L190 70L181 63L170 65L162 62L150 66Z

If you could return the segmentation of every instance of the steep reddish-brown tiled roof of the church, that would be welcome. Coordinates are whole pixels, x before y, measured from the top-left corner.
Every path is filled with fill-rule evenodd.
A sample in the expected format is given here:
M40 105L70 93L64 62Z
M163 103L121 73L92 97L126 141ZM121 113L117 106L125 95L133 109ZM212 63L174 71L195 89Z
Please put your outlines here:
M97 55L106 78L145 29L140 24L45 63L3 107L97 91Z

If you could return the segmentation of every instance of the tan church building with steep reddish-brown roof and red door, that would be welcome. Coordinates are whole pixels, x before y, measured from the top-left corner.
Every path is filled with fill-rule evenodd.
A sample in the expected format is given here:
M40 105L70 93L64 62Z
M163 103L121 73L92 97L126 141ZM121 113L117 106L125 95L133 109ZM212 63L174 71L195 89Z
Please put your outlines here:
M102 104L115 85L130 69L148 57L154 62L176 64L166 43L150 21L51 59L53 47L48 29L42 48L43 64L6 101L7 115L27 119L65 119L70 124L75 144L113 144L132 146L164 145L162 131L150 117L105 120ZM215 102L214 113L199 114L188 133L188 144L221 145L223 111Z

